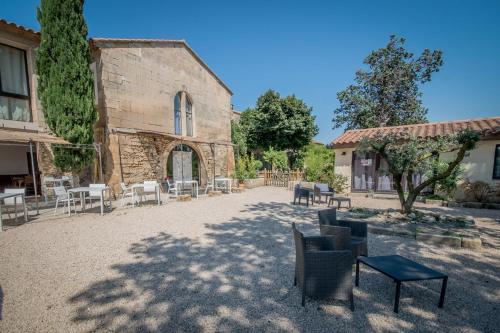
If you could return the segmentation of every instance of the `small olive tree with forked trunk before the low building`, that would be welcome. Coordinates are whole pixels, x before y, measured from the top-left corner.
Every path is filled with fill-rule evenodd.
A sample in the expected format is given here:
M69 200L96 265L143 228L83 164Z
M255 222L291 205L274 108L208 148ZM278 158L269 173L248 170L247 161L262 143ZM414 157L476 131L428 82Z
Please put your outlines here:
M478 140L479 134L470 129L438 138L417 138L408 133L378 134L365 138L359 149L378 153L386 160L385 171L392 175L401 210L408 214L420 192L453 175L465 153L474 149ZM451 159L441 157L450 153L453 154ZM413 176L418 173L429 177L415 185ZM406 181L408 193L403 190L403 181Z

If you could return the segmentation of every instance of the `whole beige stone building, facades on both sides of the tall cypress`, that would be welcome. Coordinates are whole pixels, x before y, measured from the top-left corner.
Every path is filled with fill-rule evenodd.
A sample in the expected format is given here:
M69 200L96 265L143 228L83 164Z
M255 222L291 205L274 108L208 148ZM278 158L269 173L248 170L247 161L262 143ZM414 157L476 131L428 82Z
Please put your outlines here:
M0 189L30 177L60 175L36 94L40 33L0 20ZM183 40L90 40L95 74L99 163L87 181L198 180L234 170L231 90ZM99 179L100 172L102 180ZM93 175L92 175L93 174ZM88 175L88 173L87 173ZM19 183L20 185L20 183Z

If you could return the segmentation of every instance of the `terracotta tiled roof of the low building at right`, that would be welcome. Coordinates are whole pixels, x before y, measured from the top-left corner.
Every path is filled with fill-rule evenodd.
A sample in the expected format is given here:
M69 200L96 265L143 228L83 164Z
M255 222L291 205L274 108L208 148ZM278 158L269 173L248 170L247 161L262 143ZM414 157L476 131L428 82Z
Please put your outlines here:
M341 146L354 146L365 137L372 137L376 134L402 132L407 132L411 135L421 138L438 137L454 134L466 128L477 131L481 133L482 136L499 134L500 117L349 130L333 140L332 145L334 148Z

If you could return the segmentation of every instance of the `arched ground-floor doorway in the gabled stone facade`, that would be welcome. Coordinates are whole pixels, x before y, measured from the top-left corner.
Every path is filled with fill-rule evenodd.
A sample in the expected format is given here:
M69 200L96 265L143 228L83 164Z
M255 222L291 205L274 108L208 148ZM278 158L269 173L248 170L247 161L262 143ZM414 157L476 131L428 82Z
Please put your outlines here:
M167 178L173 181L196 180L200 184L201 167L198 153L186 144L176 145L167 158Z

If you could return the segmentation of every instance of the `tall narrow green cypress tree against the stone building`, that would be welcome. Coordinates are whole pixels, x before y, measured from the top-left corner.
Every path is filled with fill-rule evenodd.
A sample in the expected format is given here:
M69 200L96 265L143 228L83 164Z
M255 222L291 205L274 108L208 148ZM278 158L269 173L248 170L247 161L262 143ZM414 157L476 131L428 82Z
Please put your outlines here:
M36 68L38 96L51 131L72 144L92 144L97 120L83 0L42 0L37 10L41 42ZM62 171L93 161L92 149L53 147Z

